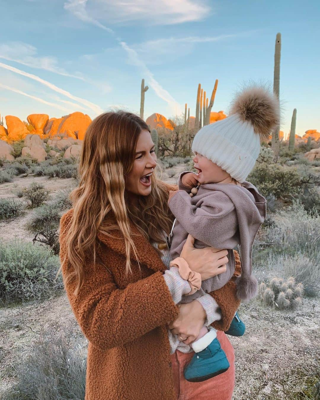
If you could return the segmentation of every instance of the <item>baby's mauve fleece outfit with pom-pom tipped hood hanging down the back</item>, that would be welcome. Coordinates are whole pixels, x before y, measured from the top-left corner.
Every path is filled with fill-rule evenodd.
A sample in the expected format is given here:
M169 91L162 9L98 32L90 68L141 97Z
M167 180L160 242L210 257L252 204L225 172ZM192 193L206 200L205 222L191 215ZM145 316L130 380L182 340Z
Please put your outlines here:
M170 254L172 259L179 257L188 234L196 240L194 247L212 246L228 249L227 270L202 282L202 287L190 296L183 296L182 303L191 302L199 296L222 288L234 274L234 259L230 252L238 244L241 249L241 280L239 286L245 286L251 276L252 246L256 234L266 218L266 199L250 182L242 185L208 183L202 184L198 193L190 197L190 189L182 184L182 172L178 190L169 198L169 208L176 217ZM241 288L240 288L241 289ZM250 300L252 293L242 290L241 300Z

